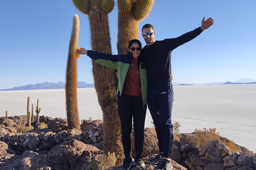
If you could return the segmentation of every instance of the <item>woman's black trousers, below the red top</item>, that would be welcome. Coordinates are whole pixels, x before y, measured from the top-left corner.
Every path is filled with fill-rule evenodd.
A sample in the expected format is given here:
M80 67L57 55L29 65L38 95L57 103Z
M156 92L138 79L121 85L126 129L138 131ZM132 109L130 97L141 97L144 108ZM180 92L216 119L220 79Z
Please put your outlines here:
M141 96L118 96L118 114L121 121L122 143L126 158L131 155L132 117L135 133L134 148L137 157L141 156L144 143L144 125L147 105L142 104Z

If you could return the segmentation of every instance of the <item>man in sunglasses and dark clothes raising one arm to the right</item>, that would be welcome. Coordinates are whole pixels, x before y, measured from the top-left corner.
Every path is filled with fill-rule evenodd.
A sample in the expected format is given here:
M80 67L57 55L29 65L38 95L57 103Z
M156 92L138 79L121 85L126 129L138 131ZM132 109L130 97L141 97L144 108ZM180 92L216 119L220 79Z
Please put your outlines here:
M173 126L171 122L173 87L171 82L171 52L173 49L197 37L202 31L211 27L213 19L202 20L201 27L184 35L156 41L153 25L142 27L142 37L146 41L141 56L147 67L148 108L156 129L160 153L155 158L148 159L150 164L158 165L157 170L170 170Z

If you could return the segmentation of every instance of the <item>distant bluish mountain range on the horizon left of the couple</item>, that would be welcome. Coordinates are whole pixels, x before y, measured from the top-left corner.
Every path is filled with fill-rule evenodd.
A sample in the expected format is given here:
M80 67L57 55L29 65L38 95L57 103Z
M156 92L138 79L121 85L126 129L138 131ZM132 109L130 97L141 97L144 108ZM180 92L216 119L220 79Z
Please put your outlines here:
M0 91L11 91L11 90L40 90L40 89L65 89L66 83L58 82L58 83L37 83L37 84L28 84L26 86L14 87L11 89L3 89ZM94 84L86 83L84 81L77 82L77 88L90 88L94 87Z

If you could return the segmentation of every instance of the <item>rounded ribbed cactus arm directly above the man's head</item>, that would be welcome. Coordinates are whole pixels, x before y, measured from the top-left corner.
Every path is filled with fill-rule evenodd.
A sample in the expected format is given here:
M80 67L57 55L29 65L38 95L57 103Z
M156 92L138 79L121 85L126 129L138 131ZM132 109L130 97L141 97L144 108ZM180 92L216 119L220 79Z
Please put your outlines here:
M150 10L154 4L155 0L138 0L134 4L133 16L135 20L141 21L146 18L150 13Z

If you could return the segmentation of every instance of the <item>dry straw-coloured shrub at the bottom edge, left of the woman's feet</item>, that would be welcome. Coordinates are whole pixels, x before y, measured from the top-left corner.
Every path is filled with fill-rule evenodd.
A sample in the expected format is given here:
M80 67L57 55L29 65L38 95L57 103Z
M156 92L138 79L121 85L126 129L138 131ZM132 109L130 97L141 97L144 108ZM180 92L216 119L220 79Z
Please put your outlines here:
M108 152L107 154L99 155L98 160L94 159L91 162L89 162L89 166L92 170L106 170L108 167L115 166L116 164L116 156L115 152L113 154L110 154Z

